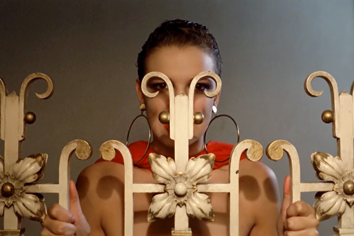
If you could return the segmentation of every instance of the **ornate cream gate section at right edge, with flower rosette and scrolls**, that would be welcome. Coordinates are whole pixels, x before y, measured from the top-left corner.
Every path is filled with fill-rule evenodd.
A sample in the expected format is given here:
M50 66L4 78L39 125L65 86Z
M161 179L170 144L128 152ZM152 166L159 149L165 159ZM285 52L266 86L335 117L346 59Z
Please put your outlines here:
M305 91L317 97L323 91L315 91L311 82L315 77L325 79L330 87L332 110L322 113L322 121L332 123L333 137L337 139L337 156L315 152L311 156L316 176L327 182L301 183L300 165L296 149L284 140L270 143L266 148L267 156L279 160L285 151L291 169L292 202L299 201L301 192L319 192L314 207L319 220L338 215L338 226L334 227L335 235L354 236L354 159L353 159L353 86L350 94L343 91L338 94L335 79L327 72L317 71L310 74L304 83Z

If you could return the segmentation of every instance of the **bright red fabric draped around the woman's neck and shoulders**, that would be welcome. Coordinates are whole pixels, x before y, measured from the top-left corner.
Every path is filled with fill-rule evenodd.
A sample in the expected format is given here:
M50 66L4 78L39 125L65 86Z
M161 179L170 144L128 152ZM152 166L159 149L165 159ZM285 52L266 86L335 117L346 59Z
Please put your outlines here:
M130 150L130 153L132 154L132 158L133 161L138 161L144 154L146 147L148 145L147 141L141 140L141 141L137 141L134 143L131 143L128 148ZM209 153L213 153L215 155L215 160L216 161L224 161L226 159L228 159L230 157L231 151L234 148L234 145L232 144L228 144L228 143L221 143L221 142L217 142L214 140L211 140L207 145L206 148L208 149ZM155 152L151 146L149 147L148 151L146 152L145 156L143 157L143 159L141 159L140 161L138 161L137 163L133 163L134 166L140 167L140 168L144 168L144 169L148 169L149 171L152 172L151 168L150 168L150 164L149 164L149 159L148 156L150 153ZM194 157L198 157L200 155L205 155L206 152L203 149L201 152L199 152L198 154L194 155ZM192 156L190 156L189 158L191 158ZM241 158L245 159L245 153L242 152ZM96 161L97 162L101 162L104 161L102 158L98 159ZM120 163L120 164L124 164L123 162L123 156L122 154L117 151L116 156L114 157L114 159L112 160L113 162L116 163ZM214 162L214 167L213 169L218 169L222 166L228 165L229 164L229 160L224 161L224 162Z

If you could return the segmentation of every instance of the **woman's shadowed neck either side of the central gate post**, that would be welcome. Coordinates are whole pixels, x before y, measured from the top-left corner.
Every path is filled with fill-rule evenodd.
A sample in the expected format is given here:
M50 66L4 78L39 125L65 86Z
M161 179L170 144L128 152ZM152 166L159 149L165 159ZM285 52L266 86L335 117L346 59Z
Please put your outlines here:
M173 142L173 141L172 141ZM188 155L195 156L199 152L204 149L203 138L196 140L195 142L191 143L192 140L189 140L188 146ZM174 143L174 142L173 142ZM160 142L157 138L151 142L150 146L157 154L160 154L165 157L171 157L175 159L175 147L174 146L167 146L164 143Z

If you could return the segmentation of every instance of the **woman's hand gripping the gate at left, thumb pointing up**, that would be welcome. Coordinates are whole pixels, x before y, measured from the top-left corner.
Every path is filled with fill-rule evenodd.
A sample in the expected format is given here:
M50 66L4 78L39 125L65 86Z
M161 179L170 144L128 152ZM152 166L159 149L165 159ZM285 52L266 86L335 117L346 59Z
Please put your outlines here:
M70 212L56 203L48 209L42 226L41 236L89 236L90 226L81 211L78 191L73 180L70 180Z

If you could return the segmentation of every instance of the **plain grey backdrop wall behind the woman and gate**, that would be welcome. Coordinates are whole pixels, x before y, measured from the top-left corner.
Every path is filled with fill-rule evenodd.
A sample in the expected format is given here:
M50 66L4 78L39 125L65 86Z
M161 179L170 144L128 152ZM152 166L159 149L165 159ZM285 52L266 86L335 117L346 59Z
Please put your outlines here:
M99 146L110 139L125 141L131 120L139 114L134 89L137 54L148 34L166 19L206 24L223 58L223 90L219 114L237 120L241 139L264 147L273 140L291 142L301 158L302 182L316 181L310 166L315 151L336 154L331 125L320 119L331 108L326 82L316 79L321 97L303 89L306 76L325 70L339 90L350 90L354 78L353 1L0 1L0 75L8 91L19 92L23 79L42 72L55 83L48 100L35 97L45 83L29 91L28 111L37 121L27 126L22 156L49 155L43 182L57 182L58 157L73 139L93 146L90 160L72 160L72 178L98 159ZM132 140L146 139L143 121ZM143 130L141 132L140 130ZM217 132L216 132L217 131ZM213 122L208 138L235 142L232 123ZM3 144L1 144L1 155ZM263 160L282 180L286 159ZM57 201L47 194L48 205ZM314 193L303 199L312 204ZM320 225L332 235L336 219ZM40 225L24 221L27 235Z

